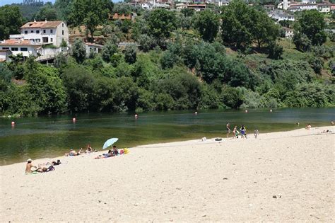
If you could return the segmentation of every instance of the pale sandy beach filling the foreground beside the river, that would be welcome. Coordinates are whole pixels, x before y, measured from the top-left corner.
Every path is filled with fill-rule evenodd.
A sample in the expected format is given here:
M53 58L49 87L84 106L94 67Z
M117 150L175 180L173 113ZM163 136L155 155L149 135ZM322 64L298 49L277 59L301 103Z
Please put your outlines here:
M0 166L1 222L334 222L334 127ZM102 152L99 152L101 154ZM39 164L48 159L33 161ZM276 198L273 198L276 196Z

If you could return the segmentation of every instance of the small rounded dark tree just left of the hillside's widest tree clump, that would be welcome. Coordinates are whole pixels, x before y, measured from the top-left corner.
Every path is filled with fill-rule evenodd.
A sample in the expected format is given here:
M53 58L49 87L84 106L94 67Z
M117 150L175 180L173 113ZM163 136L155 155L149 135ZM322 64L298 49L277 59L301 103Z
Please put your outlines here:
M201 11L194 18L194 27L205 41L213 42L219 28L218 15L208 9Z

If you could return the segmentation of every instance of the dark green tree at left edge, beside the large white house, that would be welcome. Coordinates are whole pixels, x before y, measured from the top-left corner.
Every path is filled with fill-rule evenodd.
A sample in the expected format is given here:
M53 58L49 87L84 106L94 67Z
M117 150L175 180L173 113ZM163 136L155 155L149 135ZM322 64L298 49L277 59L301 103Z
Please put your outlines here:
M10 34L20 33L23 17L18 6L0 7L0 40L9 38Z

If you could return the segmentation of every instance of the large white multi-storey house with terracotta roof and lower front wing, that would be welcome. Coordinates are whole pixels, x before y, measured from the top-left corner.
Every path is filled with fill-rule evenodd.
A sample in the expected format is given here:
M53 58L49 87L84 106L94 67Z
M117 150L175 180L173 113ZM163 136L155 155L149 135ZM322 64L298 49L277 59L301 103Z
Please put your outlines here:
M9 40L0 42L0 50L11 50L13 55L24 57L45 56L62 49L47 49L43 45L60 47L64 40L69 43L69 29L63 21L33 21L21 26L18 35L10 35Z

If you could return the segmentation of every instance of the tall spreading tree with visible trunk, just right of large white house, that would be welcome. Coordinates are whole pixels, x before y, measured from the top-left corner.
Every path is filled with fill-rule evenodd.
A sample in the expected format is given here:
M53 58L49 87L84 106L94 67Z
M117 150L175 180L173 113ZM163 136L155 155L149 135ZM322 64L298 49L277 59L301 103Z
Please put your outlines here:
M73 25L85 24L93 40L96 26L107 21L112 7L112 1L109 0L74 0L71 4L69 22Z

